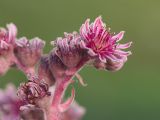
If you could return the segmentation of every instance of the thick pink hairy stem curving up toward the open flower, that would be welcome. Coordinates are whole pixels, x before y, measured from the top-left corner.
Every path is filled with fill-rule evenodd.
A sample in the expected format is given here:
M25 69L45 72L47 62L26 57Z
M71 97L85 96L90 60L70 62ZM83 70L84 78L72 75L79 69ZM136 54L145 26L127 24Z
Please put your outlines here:
M66 70L66 74L62 78L57 78L56 79L56 88L55 88L55 93L52 101L52 109L53 113L51 114L56 114L57 116L54 116L50 118L50 120L61 120L61 112L59 109L59 106L61 105L61 102L63 100L64 93L68 86L72 83L72 78L74 75L86 64L86 62L89 60L89 58L83 59L75 68L71 68L69 70ZM64 108L64 111L68 108L69 106L66 106Z

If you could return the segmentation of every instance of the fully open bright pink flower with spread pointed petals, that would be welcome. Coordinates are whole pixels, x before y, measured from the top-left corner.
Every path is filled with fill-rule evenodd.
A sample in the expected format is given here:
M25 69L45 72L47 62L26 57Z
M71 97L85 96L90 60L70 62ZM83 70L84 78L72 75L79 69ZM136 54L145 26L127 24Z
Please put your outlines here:
M122 49L129 48L131 42L126 44L119 44L118 42L123 38L124 31L117 35L113 35L106 29L105 24L102 22L101 17L89 24L89 19L81 26L80 35L86 43L86 48L91 56L97 56L98 59L104 63L107 60L123 61L118 56L128 56L130 51L122 51Z

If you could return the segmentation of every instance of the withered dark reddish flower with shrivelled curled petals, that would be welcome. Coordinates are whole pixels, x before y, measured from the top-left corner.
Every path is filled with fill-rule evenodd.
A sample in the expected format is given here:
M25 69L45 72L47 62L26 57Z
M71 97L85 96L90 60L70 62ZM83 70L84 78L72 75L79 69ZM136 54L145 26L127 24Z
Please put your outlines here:
M29 104L37 104L40 99L50 95L48 84L36 77L21 84L18 89L19 98Z

